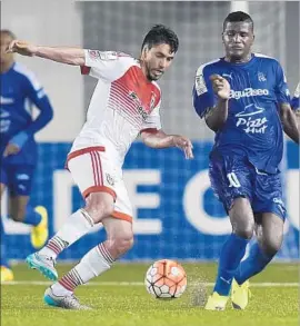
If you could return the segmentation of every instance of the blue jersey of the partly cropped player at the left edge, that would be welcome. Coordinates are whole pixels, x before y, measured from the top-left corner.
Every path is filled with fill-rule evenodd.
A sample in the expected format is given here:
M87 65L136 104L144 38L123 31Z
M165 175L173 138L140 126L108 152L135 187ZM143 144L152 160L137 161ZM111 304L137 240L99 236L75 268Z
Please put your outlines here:
M1 73L0 102L0 156L1 161L13 165L34 165L37 161L37 144L34 134L52 119L52 107L43 88L32 72L20 63ZM32 106L40 110L32 119ZM14 142L21 150L17 155L3 158L9 142Z

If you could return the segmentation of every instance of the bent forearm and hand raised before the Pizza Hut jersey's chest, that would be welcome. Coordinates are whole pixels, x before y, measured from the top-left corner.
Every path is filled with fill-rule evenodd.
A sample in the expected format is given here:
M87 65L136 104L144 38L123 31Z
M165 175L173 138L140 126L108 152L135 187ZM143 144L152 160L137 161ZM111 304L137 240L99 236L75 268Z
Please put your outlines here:
M228 101L230 97L229 82L219 75L210 76L213 92L218 96L217 105L206 115L208 127L218 131L224 125L228 117Z

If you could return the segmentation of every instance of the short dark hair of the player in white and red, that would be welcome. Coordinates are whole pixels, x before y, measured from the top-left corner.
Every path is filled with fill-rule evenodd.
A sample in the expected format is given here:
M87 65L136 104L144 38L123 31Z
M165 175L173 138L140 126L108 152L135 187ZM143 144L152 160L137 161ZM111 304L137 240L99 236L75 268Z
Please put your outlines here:
M153 46L162 43L169 45L172 52L177 52L179 47L179 40L174 31L163 24L156 24L144 37L141 49L144 46L151 49Z

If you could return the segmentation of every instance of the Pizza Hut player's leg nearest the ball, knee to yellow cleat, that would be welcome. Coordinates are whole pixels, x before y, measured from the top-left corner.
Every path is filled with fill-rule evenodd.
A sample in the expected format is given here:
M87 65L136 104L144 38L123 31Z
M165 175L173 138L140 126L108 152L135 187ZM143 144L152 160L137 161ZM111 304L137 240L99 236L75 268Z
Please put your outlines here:
M247 244L253 235L254 217L247 198L236 198L229 210L229 216L232 234L221 250L213 294L206 305L208 310L223 310L226 308L234 271L244 255Z

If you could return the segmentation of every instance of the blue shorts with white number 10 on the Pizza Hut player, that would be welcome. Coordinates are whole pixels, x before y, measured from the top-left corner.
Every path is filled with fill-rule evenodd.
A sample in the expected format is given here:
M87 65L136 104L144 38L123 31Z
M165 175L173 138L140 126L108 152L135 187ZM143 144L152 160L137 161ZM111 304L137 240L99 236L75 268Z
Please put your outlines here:
M273 213L286 219L280 172L259 171L247 158L212 155L209 165L211 187L227 213L233 199L246 197L253 214Z

